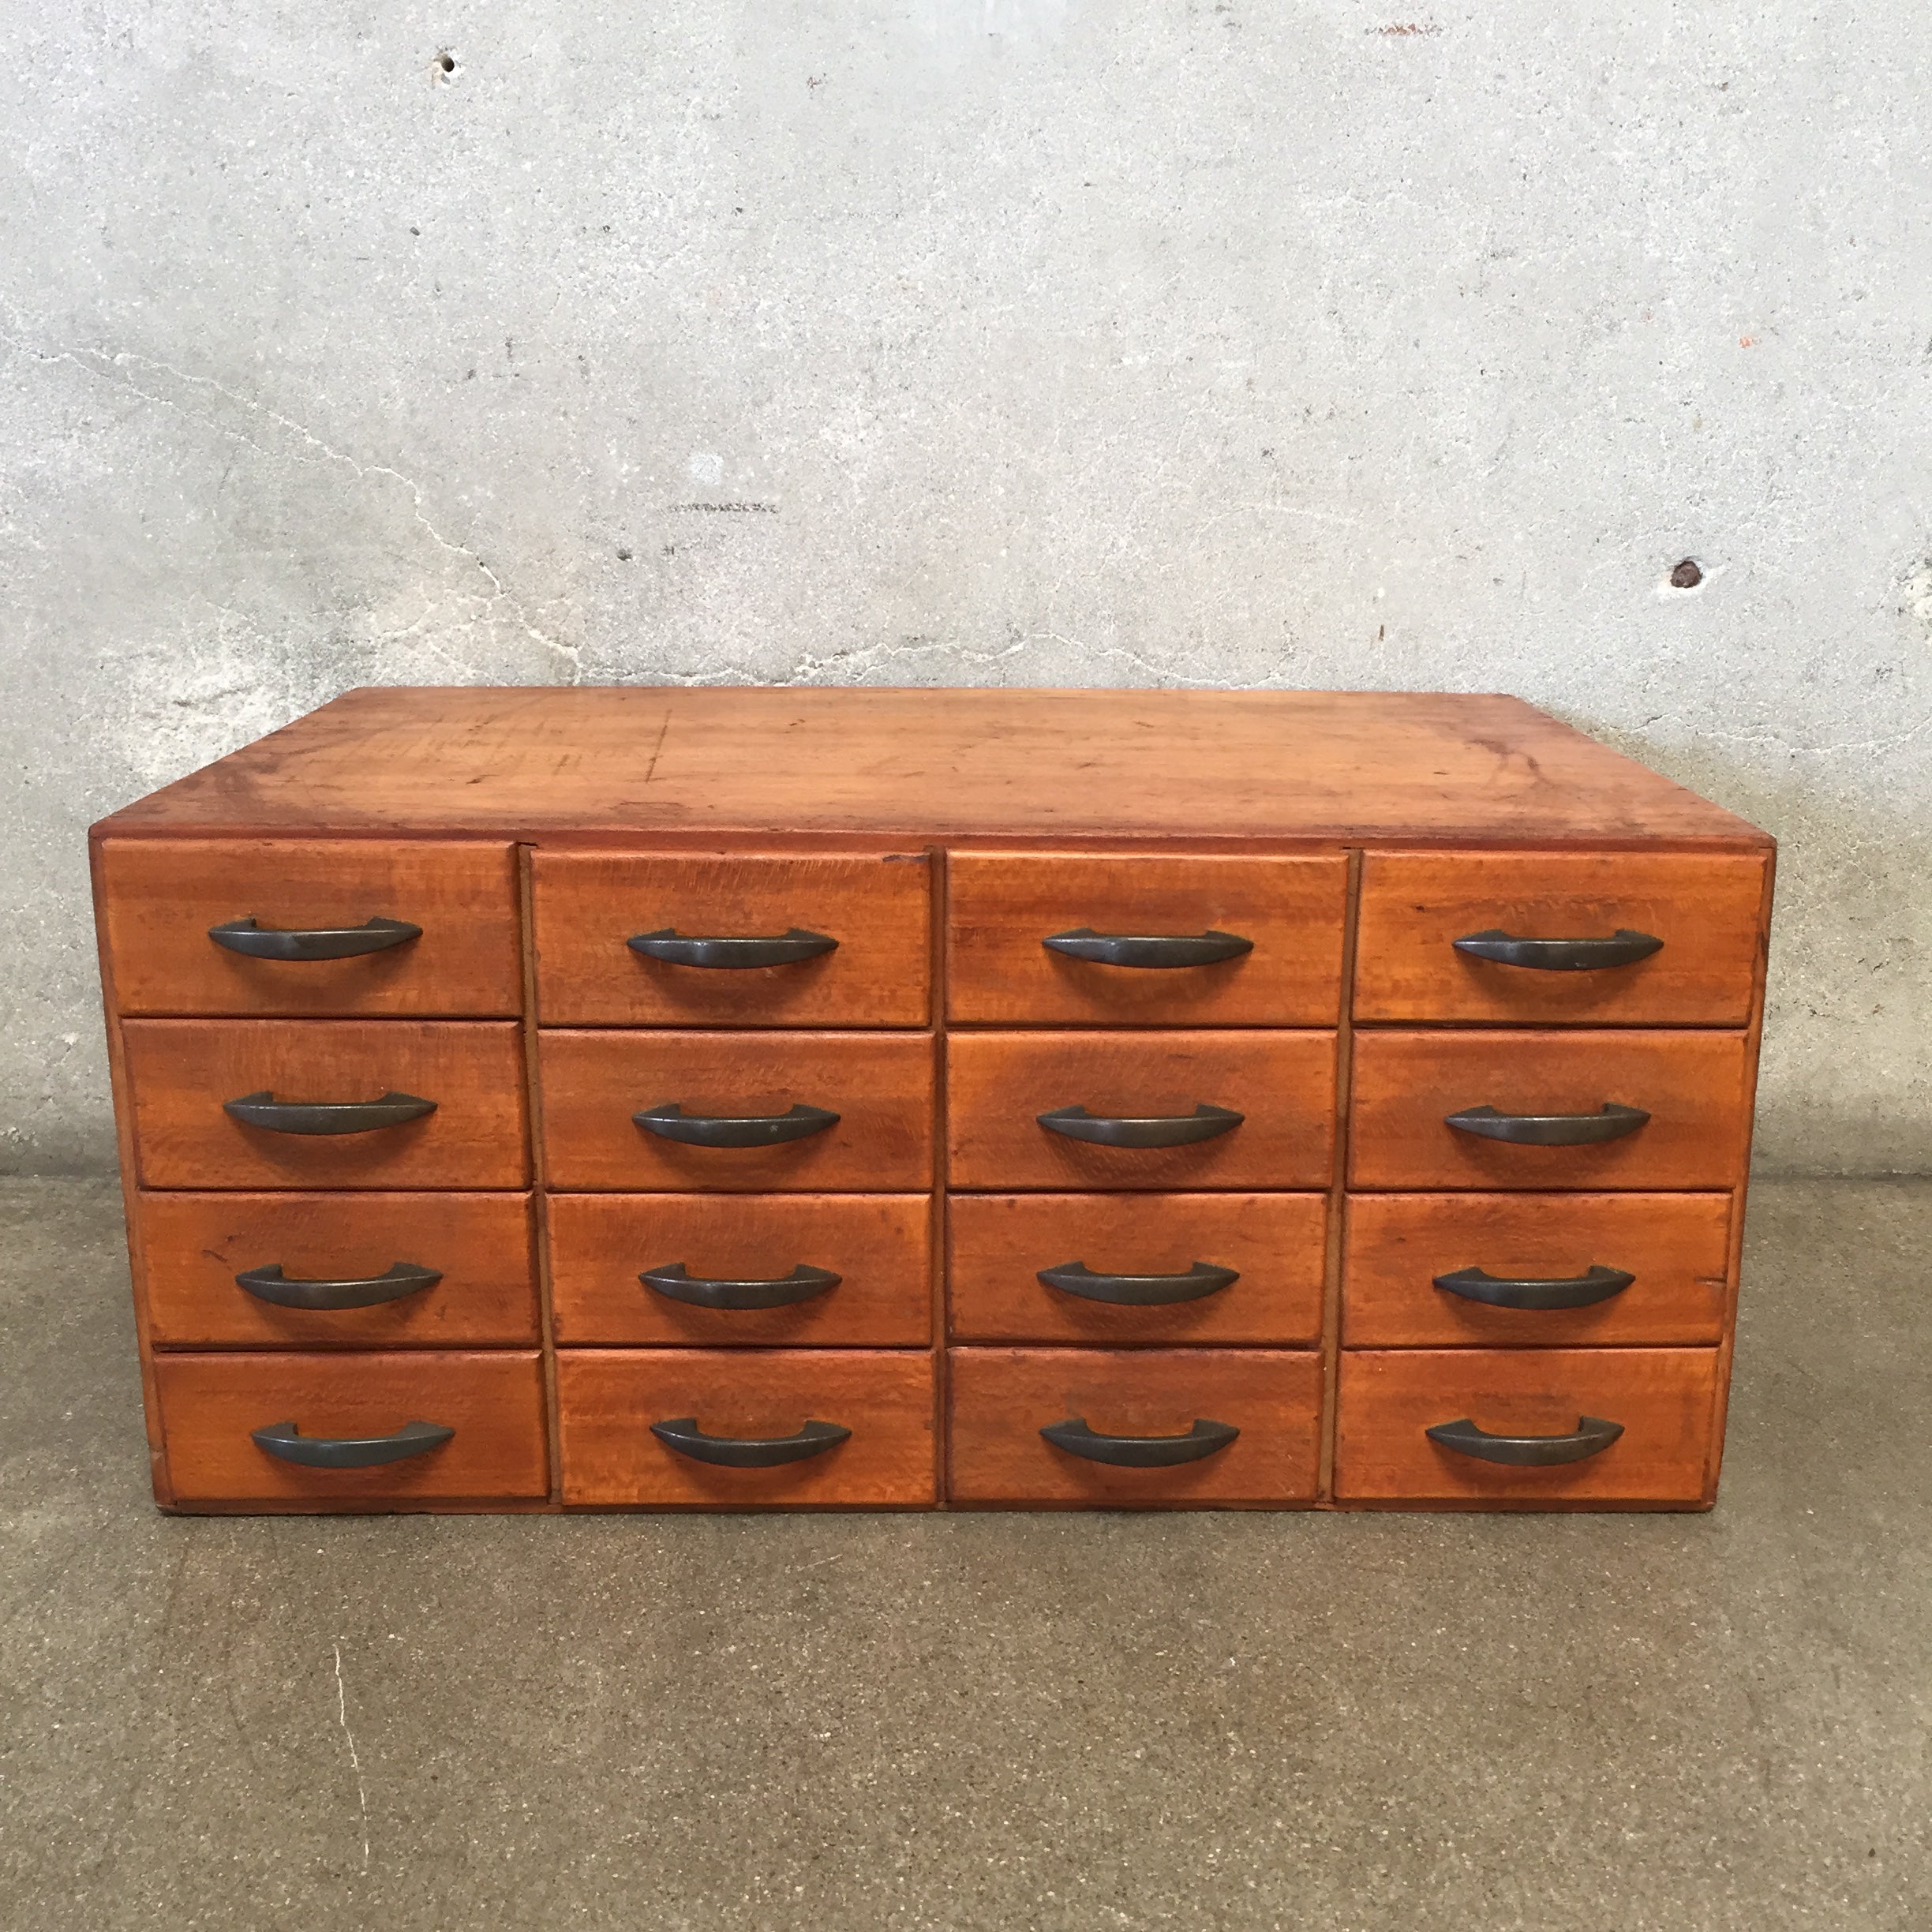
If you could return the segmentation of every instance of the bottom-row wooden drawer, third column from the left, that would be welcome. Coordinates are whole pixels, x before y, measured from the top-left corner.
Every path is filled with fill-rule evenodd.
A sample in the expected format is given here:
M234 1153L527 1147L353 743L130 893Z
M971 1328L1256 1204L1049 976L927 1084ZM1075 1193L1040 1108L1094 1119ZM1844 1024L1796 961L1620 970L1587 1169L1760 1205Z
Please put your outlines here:
M1316 1493L1321 1358L1258 1349L954 1349L951 1470L962 1503L1298 1503ZM1090 1455L1039 1432L1084 1422ZM1099 1455L1182 1451L1124 1466ZM1209 1447L1211 1428L1233 1441ZM1142 1449L1092 1437L1136 1437ZM1150 1443L1150 1437L1169 1437Z

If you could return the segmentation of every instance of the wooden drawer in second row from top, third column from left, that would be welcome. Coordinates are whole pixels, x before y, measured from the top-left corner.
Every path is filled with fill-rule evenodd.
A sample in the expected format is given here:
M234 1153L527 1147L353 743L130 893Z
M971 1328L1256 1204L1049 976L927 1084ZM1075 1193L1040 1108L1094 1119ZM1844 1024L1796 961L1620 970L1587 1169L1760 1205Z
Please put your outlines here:
M954 1034L947 1094L956 1188L1260 1192L1325 1188L1333 1169L1333 1034ZM1242 1121L1211 1140L1136 1148L1037 1119L1084 1107L1179 1122L1206 1119L1204 1105Z

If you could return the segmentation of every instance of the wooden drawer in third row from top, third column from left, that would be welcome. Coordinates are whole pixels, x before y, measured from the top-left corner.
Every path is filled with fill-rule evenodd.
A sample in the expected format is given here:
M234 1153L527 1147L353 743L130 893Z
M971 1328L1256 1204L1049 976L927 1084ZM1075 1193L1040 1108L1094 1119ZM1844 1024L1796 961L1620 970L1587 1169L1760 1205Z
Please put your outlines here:
M1312 1345L1321 1333L1325 1194L960 1194L947 1219L956 1341ZM1068 1264L1097 1279L1039 1279Z

